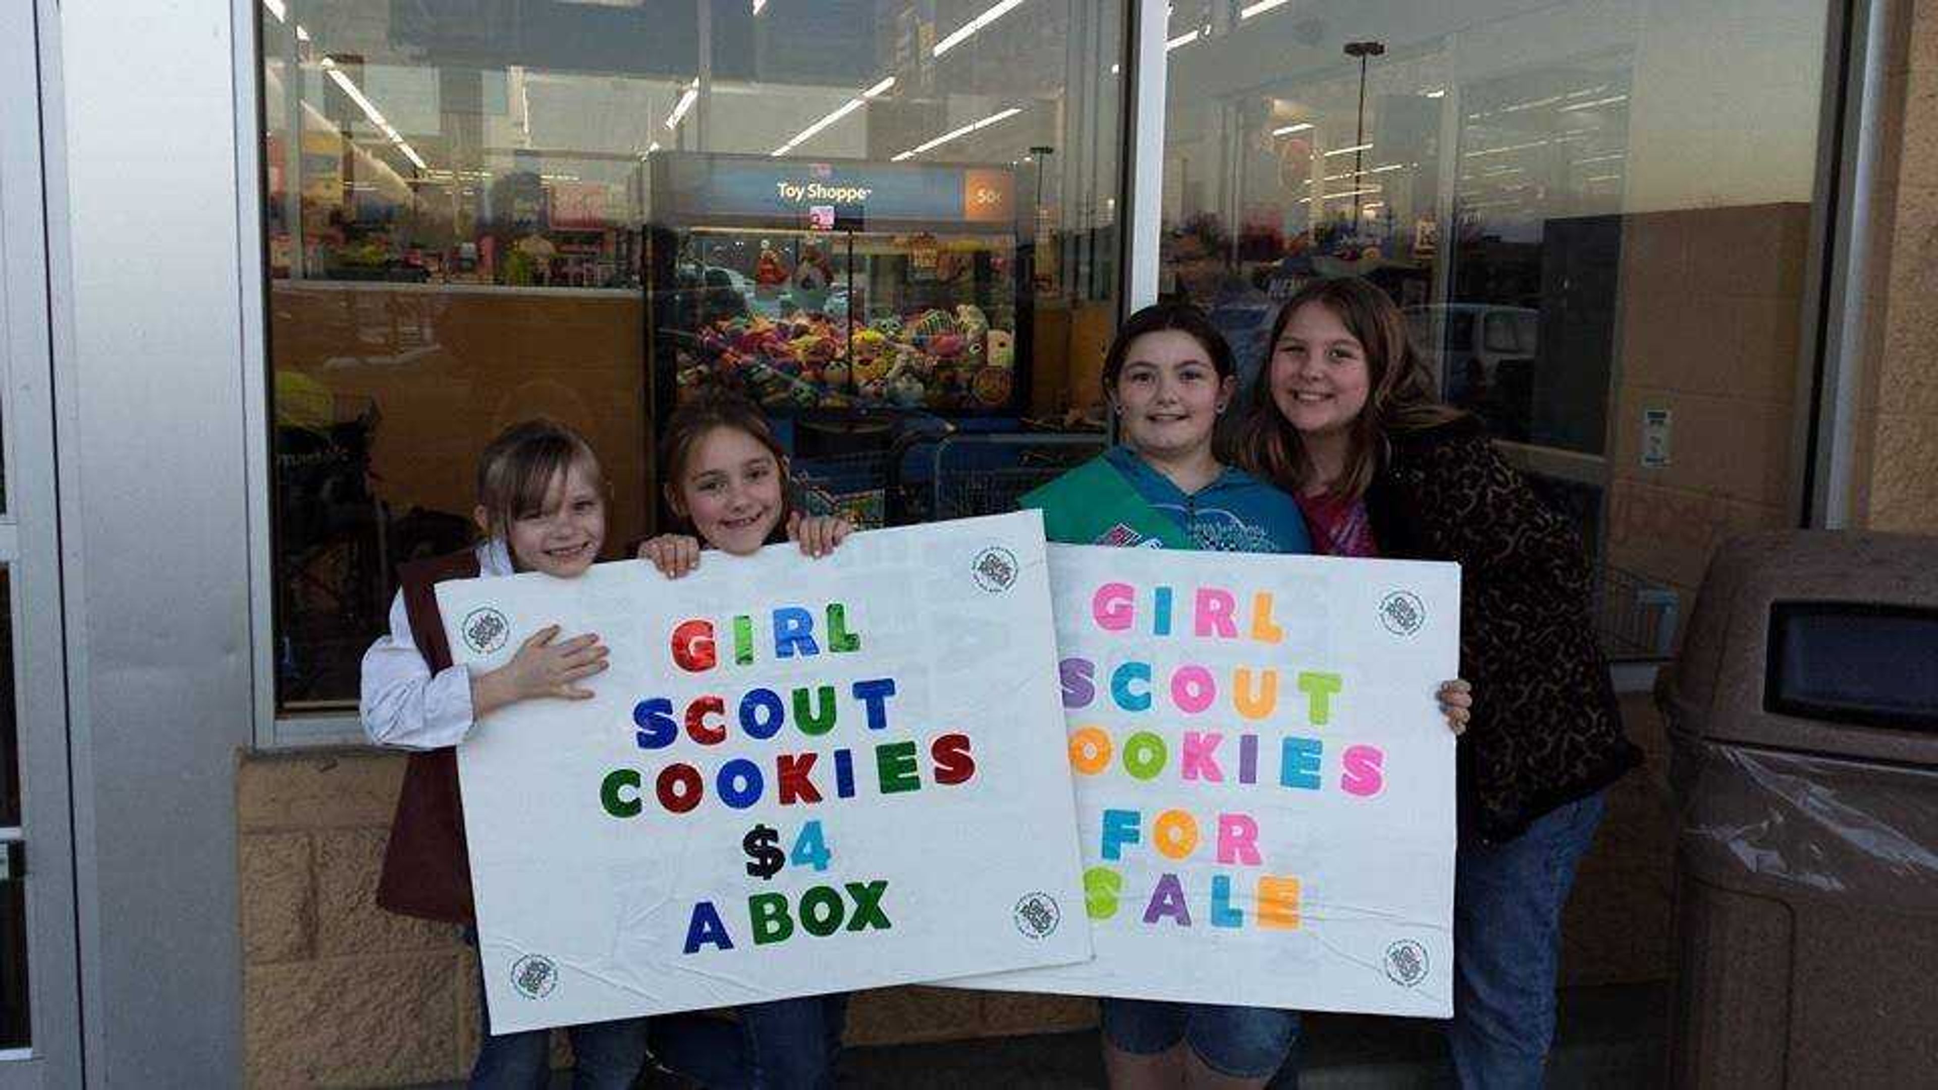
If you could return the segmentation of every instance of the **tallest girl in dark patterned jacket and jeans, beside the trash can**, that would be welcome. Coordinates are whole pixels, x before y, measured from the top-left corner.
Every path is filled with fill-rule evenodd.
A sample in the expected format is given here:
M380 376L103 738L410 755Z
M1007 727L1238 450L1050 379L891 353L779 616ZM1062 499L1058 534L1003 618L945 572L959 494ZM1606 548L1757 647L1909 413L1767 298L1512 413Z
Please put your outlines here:
M1432 396L1399 308L1360 279L1279 310L1240 460L1297 497L1320 551L1461 564L1461 675L1485 694L1459 749L1454 1020L1463 1086L1539 1086L1560 912L1603 789L1638 760L1589 617L1581 543Z

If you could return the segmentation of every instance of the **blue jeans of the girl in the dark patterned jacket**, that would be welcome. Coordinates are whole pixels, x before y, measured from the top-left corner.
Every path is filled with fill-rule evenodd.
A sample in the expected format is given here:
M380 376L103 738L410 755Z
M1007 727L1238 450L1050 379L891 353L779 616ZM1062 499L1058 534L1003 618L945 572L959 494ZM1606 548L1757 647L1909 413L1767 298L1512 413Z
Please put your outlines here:
M1541 1086L1554 1043L1562 906L1601 824L1601 793L1548 811L1506 844L1461 834L1454 877L1454 1020L1461 1086Z

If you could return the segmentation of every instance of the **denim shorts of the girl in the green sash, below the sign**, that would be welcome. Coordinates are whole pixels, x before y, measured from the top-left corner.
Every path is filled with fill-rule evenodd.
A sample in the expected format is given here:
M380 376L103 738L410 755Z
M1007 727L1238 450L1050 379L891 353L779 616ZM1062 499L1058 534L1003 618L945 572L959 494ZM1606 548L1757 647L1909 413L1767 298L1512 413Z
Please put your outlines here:
M1103 999L1103 1036L1132 1055L1157 1055L1178 1042L1231 1078L1267 1078L1298 1038L1298 1012L1215 1003Z

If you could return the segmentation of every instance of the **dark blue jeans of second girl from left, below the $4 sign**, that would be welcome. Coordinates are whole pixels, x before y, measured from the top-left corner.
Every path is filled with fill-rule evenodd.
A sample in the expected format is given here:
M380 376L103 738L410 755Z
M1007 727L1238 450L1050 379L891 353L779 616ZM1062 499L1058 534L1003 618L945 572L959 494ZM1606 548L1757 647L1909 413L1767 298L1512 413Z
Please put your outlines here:
M653 1018L653 1059L707 1090L828 1090L835 1084L847 993L750 1003L738 1022Z

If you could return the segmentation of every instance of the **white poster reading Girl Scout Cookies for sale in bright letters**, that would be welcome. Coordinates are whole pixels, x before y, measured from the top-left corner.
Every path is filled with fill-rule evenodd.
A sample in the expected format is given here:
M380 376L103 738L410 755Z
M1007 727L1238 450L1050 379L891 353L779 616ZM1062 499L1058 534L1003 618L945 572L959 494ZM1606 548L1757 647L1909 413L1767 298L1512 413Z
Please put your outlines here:
M1050 590L1097 958L950 983L1448 1016L1459 566L1050 545Z

